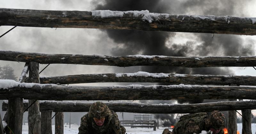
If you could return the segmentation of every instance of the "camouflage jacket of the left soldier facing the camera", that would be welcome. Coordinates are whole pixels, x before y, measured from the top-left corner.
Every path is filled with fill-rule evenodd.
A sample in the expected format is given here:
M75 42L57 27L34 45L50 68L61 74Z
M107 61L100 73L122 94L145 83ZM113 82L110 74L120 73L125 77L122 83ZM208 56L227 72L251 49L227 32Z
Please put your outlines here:
M116 134L115 131L111 128L110 123L114 125L116 130L119 132L119 134L124 134L125 129L124 127L120 127L119 119L117 114L113 111L111 111L110 121L108 121L108 117L106 117L106 120L103 124L103 126L99 127L95 125L95 122L93 121L92 117L90 117L88 114L84 115L81 118L81 125L78 128L79 132L78 134ZM122 132L123 130L123 132Z

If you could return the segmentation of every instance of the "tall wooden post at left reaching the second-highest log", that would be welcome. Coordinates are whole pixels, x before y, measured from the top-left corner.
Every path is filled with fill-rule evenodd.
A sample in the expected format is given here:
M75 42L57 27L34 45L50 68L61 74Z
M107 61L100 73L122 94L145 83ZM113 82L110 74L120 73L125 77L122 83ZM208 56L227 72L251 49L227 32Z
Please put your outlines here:
M39 63L37 62L29 62L29 82L40 83ZM28 108L28 134L41 134L39 101L28 100L28 106L30 105L31 107Z

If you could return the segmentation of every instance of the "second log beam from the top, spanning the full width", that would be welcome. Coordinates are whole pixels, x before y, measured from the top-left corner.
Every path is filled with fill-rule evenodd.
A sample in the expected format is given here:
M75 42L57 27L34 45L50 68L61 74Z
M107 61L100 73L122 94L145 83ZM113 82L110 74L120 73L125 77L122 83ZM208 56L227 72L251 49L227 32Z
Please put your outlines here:
M177 66L177 67L252 67L256 66L256 56L223 57L172 57L172 56L103 56L41 54L17 51L1 51L0 60L17 62L38 62L41 64L84 64L108 66Z

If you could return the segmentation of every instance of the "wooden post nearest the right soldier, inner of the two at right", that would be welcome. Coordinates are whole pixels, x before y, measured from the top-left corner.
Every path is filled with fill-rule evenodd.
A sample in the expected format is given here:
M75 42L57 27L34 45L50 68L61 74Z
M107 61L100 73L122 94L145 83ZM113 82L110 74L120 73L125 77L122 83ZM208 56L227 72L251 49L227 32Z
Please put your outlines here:
M237 86L236 84L230 84L229 86ZM236 101L231 99L228 101ZM236 123L236 111L228 111L228 134L237 134L237 123Z

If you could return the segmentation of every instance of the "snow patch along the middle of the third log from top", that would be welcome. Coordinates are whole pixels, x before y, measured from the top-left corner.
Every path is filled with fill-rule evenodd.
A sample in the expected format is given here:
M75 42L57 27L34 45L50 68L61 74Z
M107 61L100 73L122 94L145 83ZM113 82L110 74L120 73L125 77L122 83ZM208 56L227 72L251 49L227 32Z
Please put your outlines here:
M166 73L148 73L148 72L136 72L136 73L116 73L116 77L154 77L154 78L161 78L161 77L169 77Z

